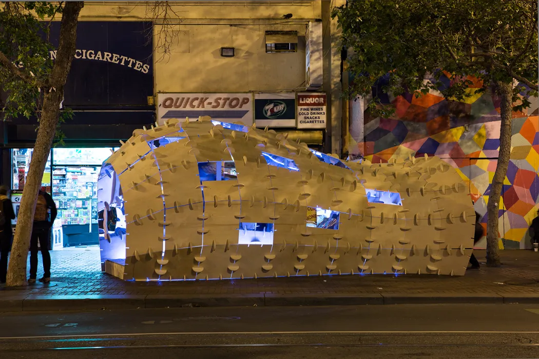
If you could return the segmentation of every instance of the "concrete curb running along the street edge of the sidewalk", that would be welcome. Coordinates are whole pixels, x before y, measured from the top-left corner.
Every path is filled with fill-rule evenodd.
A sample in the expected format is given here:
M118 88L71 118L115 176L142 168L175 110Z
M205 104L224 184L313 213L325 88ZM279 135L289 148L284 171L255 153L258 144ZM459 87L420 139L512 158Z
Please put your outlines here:
M91 311L99 309L333 306L395 304L539 304L539 293L294 293L153 295L11 295L0 297L0 312Z

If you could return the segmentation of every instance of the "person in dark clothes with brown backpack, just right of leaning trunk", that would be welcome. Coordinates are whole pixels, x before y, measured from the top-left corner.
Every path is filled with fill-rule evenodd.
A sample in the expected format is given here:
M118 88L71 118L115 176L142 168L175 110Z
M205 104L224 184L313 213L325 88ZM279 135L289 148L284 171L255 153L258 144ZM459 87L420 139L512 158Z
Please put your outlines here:
M37 195L36 213L32 227L32 236L30 237L30 278L28 283L36 283L37 278L37 252L38 242L43 258L43 278L39 279L42 283L51 281L51 254L49 245L51 240L51 227L56 219L56 204L49 193L39 191Z

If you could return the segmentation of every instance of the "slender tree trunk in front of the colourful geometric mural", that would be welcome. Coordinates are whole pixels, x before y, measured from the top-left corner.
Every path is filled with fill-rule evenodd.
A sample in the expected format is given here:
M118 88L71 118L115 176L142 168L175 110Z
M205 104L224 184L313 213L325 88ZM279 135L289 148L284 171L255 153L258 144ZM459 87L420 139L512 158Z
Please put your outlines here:
M506 178L511 154L511 123L513 120L513 85L511 83L496 82L494 87L496 94L501 98L501 127L500 152L487 203L487 266L490 267L500 266L500 255L498 253L498 213L503 181Z

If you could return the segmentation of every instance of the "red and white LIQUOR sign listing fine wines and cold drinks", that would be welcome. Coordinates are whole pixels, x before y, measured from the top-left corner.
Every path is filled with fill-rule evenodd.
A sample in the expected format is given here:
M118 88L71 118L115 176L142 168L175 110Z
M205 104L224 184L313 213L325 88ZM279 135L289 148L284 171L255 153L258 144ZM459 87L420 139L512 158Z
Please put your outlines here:
M298 93L298 128L326 128L326 94Z

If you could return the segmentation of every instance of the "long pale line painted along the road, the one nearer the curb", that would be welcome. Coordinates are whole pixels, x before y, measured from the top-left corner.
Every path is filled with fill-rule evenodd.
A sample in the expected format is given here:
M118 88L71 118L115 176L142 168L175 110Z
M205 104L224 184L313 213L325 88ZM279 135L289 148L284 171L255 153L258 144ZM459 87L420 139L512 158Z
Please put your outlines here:
M538 331L528 332L504 332L495 330L379 330L379 331L318 331L318 332L159 332L159 333L114 333L114 334L77 334L77 335L35 335L35 336L3 336L0 340L13 339L50 339L50 338L74 338L74 337L104 337L104 336L144 336L144 335L261 335L261 334L539 334Z

